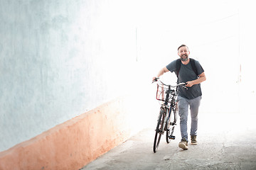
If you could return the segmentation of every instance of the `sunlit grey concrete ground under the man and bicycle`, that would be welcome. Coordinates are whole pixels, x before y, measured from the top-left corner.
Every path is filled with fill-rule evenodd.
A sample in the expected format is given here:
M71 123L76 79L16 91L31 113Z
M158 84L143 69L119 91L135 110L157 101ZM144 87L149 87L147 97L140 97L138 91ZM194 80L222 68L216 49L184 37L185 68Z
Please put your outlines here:
M176 140L169 144L165 134L156 153L152 151L154 126L134 135L82 170L109 169L256 169L255 114L201 114L198 145L188 150L178 148Z

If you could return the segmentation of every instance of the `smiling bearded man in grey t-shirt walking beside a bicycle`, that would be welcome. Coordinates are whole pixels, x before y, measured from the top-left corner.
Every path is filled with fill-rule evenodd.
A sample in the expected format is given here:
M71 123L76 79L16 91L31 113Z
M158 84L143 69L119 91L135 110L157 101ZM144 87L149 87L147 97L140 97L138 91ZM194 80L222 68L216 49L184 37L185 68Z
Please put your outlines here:
M175 72L178 82L186 82L187 89L178 88L178 115L180 116L181 142L178 147L188 149L188 106L191 111L191 145L197 145L196 136L198 130L198 108L201 102L201 82L206 80L201 64L198 61L188 57L190 52L186 45L178 47L178 56L180 60L174 60L166 67L160 70L156 77L160 77L166 72ZM153 79L156 79L154 77Z

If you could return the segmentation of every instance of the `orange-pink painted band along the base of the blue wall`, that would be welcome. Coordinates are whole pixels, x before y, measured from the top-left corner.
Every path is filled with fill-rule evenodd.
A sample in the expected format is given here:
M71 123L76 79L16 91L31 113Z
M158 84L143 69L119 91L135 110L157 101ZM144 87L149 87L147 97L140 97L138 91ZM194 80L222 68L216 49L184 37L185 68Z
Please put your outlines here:
M80 169L131 135L118 98L0 152L1 170Z

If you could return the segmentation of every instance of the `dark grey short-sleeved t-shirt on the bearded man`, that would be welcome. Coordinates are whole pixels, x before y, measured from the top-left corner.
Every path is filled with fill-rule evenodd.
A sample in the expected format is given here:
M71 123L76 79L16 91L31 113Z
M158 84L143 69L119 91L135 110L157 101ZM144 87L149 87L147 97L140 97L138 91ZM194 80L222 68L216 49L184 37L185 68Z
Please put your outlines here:
M201 67L201 64L197 60L195 60L195 65L196 65L198 75L202 74L204 70ZM166 68L169 69L170 72L175 72L177 69L176 60L168 64ZM198 79L198 75L196 75L196 73L193 71L191 62L188 62L188 64L186 65L182 64L181 62L181 68L178 72L178 82L186 83L187 81ZM198 96L202 96L201 85L195 84L191 87L188 87L188 89L179 87L178 96L181 96L183 98L188 98L188 99L193 99L193 98L197 98Z

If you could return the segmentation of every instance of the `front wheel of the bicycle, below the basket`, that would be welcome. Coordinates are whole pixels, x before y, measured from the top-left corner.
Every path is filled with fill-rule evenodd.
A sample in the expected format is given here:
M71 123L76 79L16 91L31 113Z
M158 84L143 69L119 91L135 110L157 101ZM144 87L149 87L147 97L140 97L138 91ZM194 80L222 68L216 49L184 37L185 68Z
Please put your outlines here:
M154 137L154 146L153 146L153 151L154 153L156 153L158 147L159 147L159 143L161 140L161 131L164 130L164 128L162 127L164 123L164 110L161 109L160 113L159 113L159 119L157 121L157 125L156 125L156 134Z

